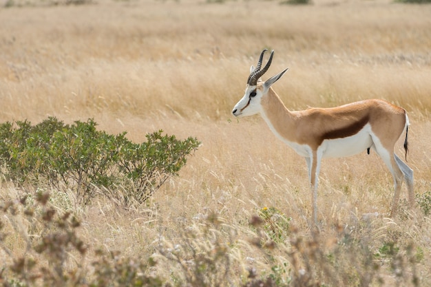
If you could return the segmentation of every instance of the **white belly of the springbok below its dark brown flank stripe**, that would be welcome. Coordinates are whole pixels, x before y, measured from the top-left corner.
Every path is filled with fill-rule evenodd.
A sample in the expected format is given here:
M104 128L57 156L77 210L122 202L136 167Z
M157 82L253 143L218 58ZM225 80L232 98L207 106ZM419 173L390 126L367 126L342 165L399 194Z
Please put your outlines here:
M341 158L344 156L354 156L357 153L368 149L372 145L371 127L365 125L359 133L347 138L335 138L324 140L319 149L323 158Z

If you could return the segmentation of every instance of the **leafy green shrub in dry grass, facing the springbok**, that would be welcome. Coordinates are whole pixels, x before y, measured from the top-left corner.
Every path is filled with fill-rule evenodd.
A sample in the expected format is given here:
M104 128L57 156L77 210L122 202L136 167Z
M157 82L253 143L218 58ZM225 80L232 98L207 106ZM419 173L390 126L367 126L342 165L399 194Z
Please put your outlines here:
M136 144L126 133L116 136L96 129L94 120L65 125L54 117L0 125L0 161L3 176L17 184L47 182L76 190L87 203L96 191L125 204L145 202L170 176L186 164L200 142L147 134Z

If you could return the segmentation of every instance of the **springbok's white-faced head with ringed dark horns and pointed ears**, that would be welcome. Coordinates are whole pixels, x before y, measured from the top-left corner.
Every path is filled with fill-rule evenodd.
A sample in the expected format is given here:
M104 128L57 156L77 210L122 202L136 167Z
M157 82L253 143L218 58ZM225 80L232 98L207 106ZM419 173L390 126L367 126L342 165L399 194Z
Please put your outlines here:
M271 55L269 56L269 60L264 66L262 70L260 70L260 67L262 67L262 60L264 59L265 52L268 51L264 49L262 53L260 53L259 62L257 63L256 67L253 67L253 65L250 68L250 76L247 80L247 85L245 89L244 96L241 98L241 100L233 107L232 114L233 116L242 117L242 116L252 116L254 114L259 114L262 110L262 106L260 105L260 101L264 96L266 96L266 93L268 92L269 88L275 81L277 81L279 78L281 78L284 73L288 70L288 68L284 71L282 71L280 74L276 74L275 76L272 76L266 81L261 81L260 77L265 74L265 72L269 69L269 66L271 65L271 62L273 61L273 55L274 50L271 51Z

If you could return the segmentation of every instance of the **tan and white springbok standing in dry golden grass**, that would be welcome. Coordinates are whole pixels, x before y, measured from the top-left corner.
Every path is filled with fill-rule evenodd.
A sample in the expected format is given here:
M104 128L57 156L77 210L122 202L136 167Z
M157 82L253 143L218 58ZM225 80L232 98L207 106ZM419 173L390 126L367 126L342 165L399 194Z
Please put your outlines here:
M303 156L311 184L313 218L317 223L317 184L322 158L353 156L367 149L376 151L394 178L395 194L391 216L397 212L403 178L408 187L410 206L414 206L413 171L395 153L394 146L406 131L404 149L408 152L408 116L406 110L385 100L361 100L332 108L289 111L271 85L288 68L266 81L260 77L269 69L274 51L262 70L263 50L256 67L251 66L245 94L233 107L235 117L260 114L271 131L286 145Z

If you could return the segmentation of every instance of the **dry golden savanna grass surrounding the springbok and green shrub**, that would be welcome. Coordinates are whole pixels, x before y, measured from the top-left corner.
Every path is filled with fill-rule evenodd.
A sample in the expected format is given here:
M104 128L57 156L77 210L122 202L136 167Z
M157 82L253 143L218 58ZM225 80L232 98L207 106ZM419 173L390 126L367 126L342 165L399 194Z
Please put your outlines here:
M78 233L89 251L76 261L83 268L97 248L124 257L152 255L165 264L147 272L180 285L185 279L178 274L185 273L160 246L191 246L195 253L189 251L184 262L224 246L232 270L227 282L236 286L251 268L257 277L271 275L280 284L307 276L314 270L307 265L319 265L315 254L334 264L332 277L339 276L337 270L343 273L339 280L345 286L430 286L430 217L419 208L407 209L404 187L398 215L388 217L392 178L375 153L324 160L316 234L305 161L259 116L236 120L231 115L250 65L263 48L273 49L264 77L290 67L273 86L289 109L366 98L405 107L415 193L430 192L430 5L131 0L8 6L0 8L1 122L94 118L100 129L127 131L136 142L158 129L202 142L179 176L145 206L123 209L102 197L82 206L75 204L73 191L43 187L57 210L72 211L82 222ZM397 153L403 156L401 140ZM27 192L32 190L10 182L0 186L2 201ZM285 231L277 230L277 240L269 230L259 233L261 227L249 225L253 215L267 210L288 220ZM208 215L218 217L216 239L207 234ZM268 240L268 246L255 246L256 237ZM346 238L350 245L343 243ZM298 242L308 245L302 249ZM351 249L344 256L337 253L342 244ZM12 237L6 245L14 254L23 253L22 240ZM372 263L355 261L364 246ZM386 251L388 246L397 246L396 254ZM319 270L315 278L335 286L322 275L326 268ZM367 272L377 275L359 280Z

